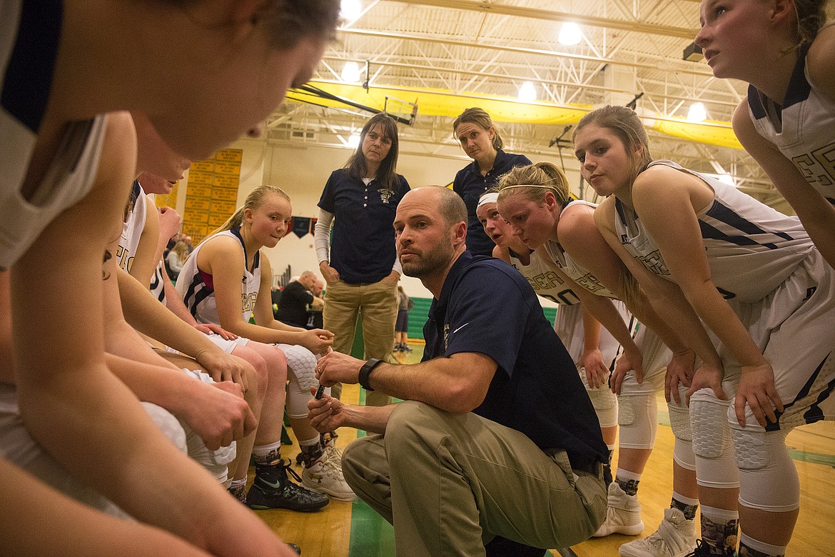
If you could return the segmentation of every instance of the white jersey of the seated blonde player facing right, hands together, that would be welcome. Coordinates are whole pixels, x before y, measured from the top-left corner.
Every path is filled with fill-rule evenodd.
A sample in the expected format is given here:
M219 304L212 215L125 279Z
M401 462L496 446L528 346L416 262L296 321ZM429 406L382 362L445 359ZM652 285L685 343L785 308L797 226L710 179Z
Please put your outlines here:
M176 288L182 296L185 306L189 308L191 315L195 316L198 323L220 325L212 276L197 268L197 256L200 253L200 248L205 246L206 242L220 235L235 238L240 243L240 249L244 252L244 261L246 261L246 248L243 239L240 237L240 229L237 228L209 236L200 242L199 246L195 247L195 251L191 252L191 255L183 264L180 276L177 277ZM252 311L255 309L259 286L261 286L261 252L257 251L253 271L243 270L240 280L240 303L245 322L250 320Z

